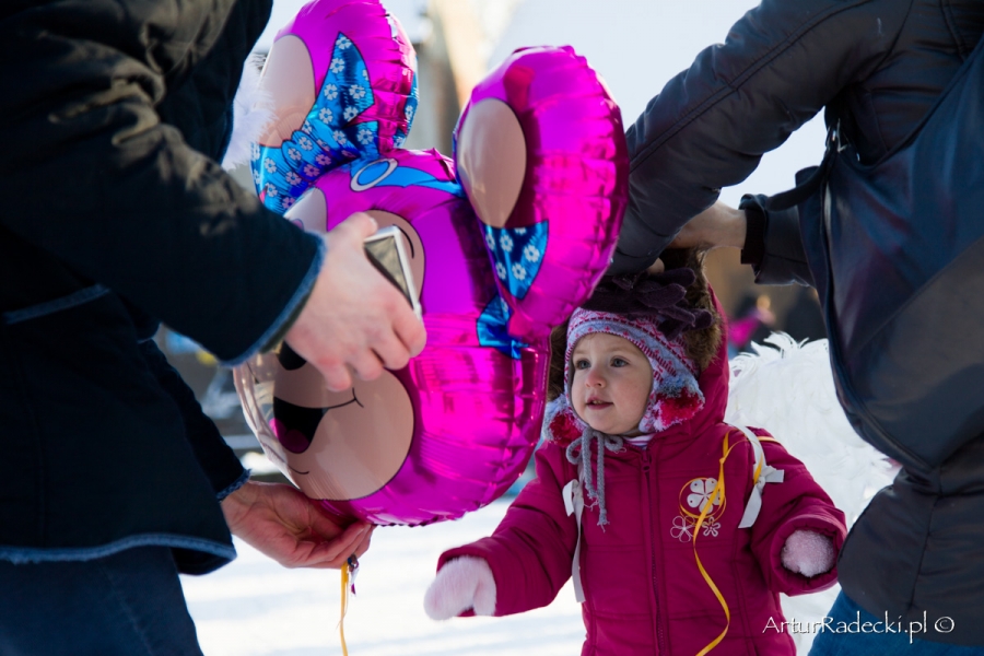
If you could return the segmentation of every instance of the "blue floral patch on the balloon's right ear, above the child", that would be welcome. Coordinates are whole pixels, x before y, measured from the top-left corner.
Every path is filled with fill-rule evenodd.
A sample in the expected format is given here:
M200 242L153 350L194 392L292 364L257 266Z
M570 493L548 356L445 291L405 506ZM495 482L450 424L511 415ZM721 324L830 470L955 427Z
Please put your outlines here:
M547 250L548 226L547 221L527 227L484 226L485 245L492 254L495 276L516 298L526 297L540 272Z

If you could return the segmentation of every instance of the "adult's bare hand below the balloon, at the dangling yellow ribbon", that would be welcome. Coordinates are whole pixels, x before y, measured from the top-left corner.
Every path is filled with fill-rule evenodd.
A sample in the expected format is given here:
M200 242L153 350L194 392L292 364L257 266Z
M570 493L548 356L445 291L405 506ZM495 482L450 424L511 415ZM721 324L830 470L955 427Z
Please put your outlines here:
M247 482L222 500L232 534L285 567L338 570L365 553L375 528L343 527L317 503L284 483Z

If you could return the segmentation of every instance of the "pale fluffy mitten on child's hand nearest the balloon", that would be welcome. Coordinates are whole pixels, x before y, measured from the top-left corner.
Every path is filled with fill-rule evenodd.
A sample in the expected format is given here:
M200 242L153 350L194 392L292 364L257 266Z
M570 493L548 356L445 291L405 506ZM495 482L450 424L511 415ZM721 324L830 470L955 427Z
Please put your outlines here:
M495 613L495 578L484 559L464 555L437 572L424 595L424 610L432 620L446 620L469 608L475 614Z

